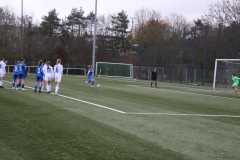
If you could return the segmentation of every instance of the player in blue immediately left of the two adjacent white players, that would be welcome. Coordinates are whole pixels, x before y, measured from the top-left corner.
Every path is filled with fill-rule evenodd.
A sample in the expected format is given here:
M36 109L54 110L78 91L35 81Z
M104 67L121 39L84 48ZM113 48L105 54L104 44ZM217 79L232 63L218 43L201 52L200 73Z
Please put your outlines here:
M37 92L37 88L39 85L39 90L38 92L41 93L42 92L42 82L43 82L43 65L42 65L43 61L40 60L38 62L38 67L36 68L36 84L35 84L35 89L34 92Z

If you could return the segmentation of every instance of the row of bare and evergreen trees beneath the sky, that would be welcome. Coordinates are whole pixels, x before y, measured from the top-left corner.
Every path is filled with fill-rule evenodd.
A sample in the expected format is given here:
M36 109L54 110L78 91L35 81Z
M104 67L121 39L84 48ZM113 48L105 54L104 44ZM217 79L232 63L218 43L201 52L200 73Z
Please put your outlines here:
M205 24L210 28L210 37L219 23L223 28L231 28L233 21L239 25L239 10L239 0L222 0L211 4L208 13L196 17L195 22L188 22L180 14L163 16L160 11L145 8L136 11L134 17L128 17L124 10L108 16L99 15L96 60L138 65L139 49L180 47L184 30L188 33L184 36L191 43L194 36L204 37ZM32 16L25 15L21 26L21 17L8 7L0 6L0 55L12 63L20 57L27 61L61 58L74 67L86 67L92 59L94 16L93 12L85 15L82 8L73 8L68 16L60 19L53 9L42 17L40 24L34 23ZM196 35L195 27L198 29ZM195 45L203 46L202 43Z

